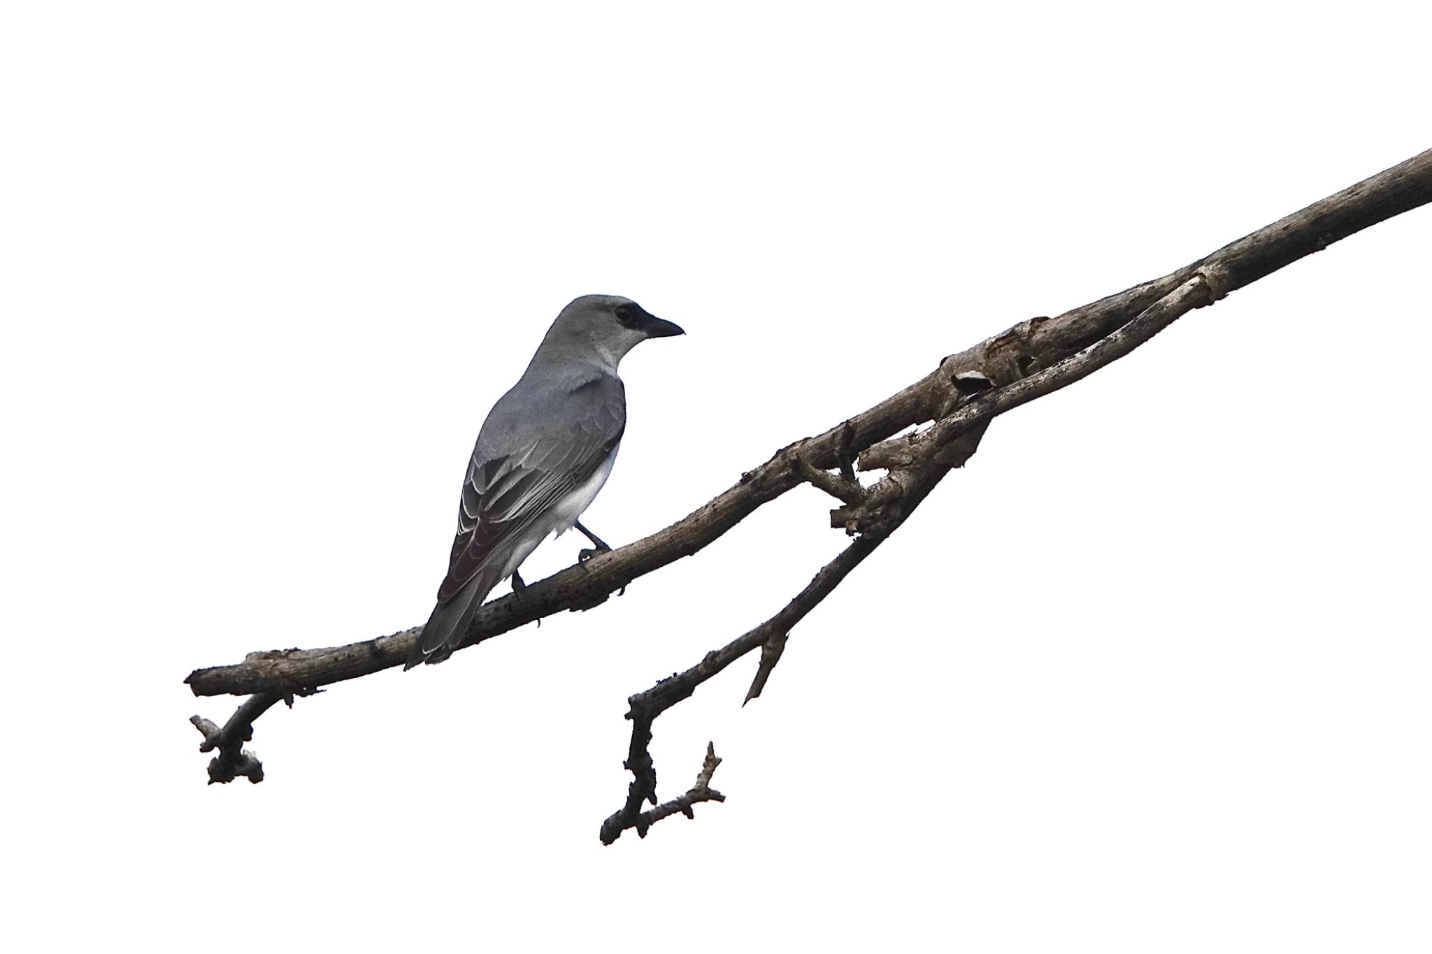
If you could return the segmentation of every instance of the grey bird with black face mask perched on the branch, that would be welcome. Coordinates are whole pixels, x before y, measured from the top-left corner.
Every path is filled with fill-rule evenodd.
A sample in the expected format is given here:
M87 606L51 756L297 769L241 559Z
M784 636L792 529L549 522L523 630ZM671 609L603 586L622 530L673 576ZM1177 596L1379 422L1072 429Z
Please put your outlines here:
M647 338L684 333L616 295L561 309L477 435L447 579L404 669L453 655L497 584L511 576L514 589L524 586L517 568L550 533L576 526L594 548L583 558L611 549L577 518L607 482L626 429L617 363Z

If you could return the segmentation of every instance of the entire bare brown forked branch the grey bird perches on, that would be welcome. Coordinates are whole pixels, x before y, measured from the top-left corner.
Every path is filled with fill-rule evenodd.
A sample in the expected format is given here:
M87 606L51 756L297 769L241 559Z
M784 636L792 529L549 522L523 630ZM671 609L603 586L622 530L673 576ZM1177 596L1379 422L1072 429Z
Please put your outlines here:
M780 658L790 628L908 519L951 468L961 466L975 452L995 416L1123 358L1194 308L1210 305L1339 239L1428 202L1432 202L1432 150L1163 277L1055 318L1020 322L974 348L949 355L934 372L874 408L783 448L766 463L743 473L730 489L666 529L484 605L470 624L463 646L556 612L600 605L633 579L705 548L800 483L812 483L835 496L845 506L832 511L831 523L855 536L839 556L775 616L707 654L686 672L630 698L627 718L633 725L627 768L633 782L623 808L603 824L601 838L610 842L626 828L644 834L660 817L674 811L689 814L695 801L719 801L712 794L682 807L683 800L697 791L693 788L666 805L640 811L647 801L657 805L656 769L647 751L652 722L716 672L760 646L762 662L746 699L756 698ZM894 436L925 422L934 423L912 435ZM886 475L862 486L855 463L862 471L885 469ZM190 672L186 682L195 695L252 694L222 729L208 719L193 718L205 734L202 751L219 749L211 762L211 781L231 781L238 775L259 781L262 767L242 749L258 715L281 698L400 665L420 632L421 628L412 628L324 649L252 652L235 665ZM707 762L712 759L713 751ZM706 780L709 782L709 772ZM659 814L667 805L676 808Z

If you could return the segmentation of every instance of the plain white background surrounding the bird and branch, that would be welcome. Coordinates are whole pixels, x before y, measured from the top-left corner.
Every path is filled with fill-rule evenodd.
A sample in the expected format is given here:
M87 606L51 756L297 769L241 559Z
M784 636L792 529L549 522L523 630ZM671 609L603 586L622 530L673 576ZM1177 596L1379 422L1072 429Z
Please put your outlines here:
M663 797L726 758L695 822L597 842L624 699L842 546L809 488L271 712L262 785L182 685L422 622L570 297L689 332L623 368L629 542L1432 144L1419 6L7 4L7 938L1426 951L1428 209L1000 419L765 698L657 722Z

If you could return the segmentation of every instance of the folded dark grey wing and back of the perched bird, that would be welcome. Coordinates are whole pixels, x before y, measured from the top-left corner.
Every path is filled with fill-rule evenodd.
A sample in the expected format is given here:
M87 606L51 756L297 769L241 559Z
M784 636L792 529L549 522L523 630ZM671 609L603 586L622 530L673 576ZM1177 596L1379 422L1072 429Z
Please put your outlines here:
M566 386L523 386L493 408L473 449L457 538L438 602L455 596L503 544L581 486L626 429L621 380L593 373Z

